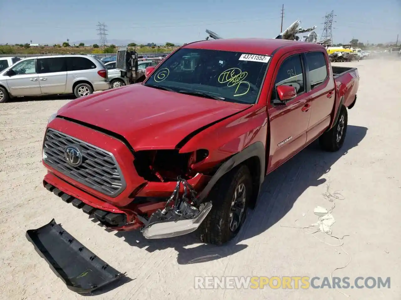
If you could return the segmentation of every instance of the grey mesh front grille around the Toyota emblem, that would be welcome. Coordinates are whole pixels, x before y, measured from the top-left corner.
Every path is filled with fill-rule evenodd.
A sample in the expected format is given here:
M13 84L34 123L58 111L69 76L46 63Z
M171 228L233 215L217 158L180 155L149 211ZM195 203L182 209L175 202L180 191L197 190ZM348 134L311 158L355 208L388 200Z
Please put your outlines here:
M65 159L65 148L77 145L83 162L73 167ZM113 154L49 128L43 142L44 161L66 176L107 196L116 197L126 184Z

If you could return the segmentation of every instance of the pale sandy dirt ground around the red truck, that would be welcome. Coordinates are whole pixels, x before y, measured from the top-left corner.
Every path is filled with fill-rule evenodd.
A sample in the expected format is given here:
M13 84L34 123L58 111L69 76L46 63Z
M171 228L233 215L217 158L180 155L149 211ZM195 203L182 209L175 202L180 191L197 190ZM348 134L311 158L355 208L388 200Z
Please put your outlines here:
M358 100L348 111L342 150L322 152L315 142L269 174L245 227L221 247L201 244L192 235L146 240L139 232L107 232L91 222L42 186L47 119L71 98L19 98L0 104L3 299L83 299L55 276L25 237L26 230L52 218L130 278L98 292L95 299L401 299L401 61L336 65L355 66L360 73ZM331 194L341 196L325 197L328 186ZM343 248L330 246L340 242L330 236L284 227L308 226L316 222L316 206L330 209L334 203L333 235L347 235ZM335 270L350 259L346 268ZM358 276L391 277L391 288L342 289L346 295L329 288L194 288L194 276L323 278L332 271L336 277L348 276L351 285Z

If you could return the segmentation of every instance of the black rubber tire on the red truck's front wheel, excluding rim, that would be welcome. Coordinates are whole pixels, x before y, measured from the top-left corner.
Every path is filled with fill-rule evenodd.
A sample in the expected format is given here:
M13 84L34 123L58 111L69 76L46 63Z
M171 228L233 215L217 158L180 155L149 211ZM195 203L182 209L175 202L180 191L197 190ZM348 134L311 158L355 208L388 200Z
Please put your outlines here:
M235 231L230 229L230 211L235 190L241 184L245 185L245 210L239 226ZM233 239L245 221L247 207L252 195L252 177L249 168L240 165L225 174L210 191L207 200L212 201L212 209L201 226L198 234L201 241L207 244L222 245Z

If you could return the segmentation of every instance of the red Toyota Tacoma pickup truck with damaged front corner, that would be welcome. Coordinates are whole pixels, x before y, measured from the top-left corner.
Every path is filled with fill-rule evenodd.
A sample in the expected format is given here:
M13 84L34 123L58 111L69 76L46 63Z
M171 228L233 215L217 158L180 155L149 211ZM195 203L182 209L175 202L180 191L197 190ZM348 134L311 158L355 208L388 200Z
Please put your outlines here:
M317 138L326 151L341 148L358 80L318 44L186 44L148 67L143 82L54 114L43 184L113 230L196 231L223 244L255 207L266 174Z

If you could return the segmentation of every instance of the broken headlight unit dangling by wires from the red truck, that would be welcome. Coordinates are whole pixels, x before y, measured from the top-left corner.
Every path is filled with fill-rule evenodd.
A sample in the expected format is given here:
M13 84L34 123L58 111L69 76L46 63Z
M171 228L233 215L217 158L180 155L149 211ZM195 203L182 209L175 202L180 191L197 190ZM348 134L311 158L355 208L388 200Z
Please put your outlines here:
M182 196L181 184L184 188ZM176 188L163 210L157 210L148 220L138 217L145 224L141 232L148 239L170 238L194 232L211 208L211 202L201 203L192 186L185 179L178 177Z

